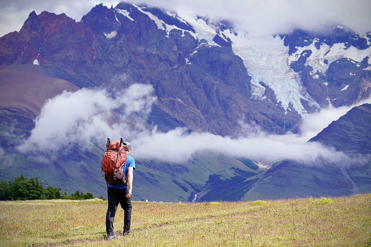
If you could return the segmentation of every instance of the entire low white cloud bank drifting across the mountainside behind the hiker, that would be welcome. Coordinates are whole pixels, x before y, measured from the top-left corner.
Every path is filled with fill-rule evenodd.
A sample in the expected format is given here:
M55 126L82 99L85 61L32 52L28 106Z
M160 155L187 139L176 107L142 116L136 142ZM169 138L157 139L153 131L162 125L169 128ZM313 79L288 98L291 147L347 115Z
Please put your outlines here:
M148 84L133 84L115 95L105 89L81 89L74 93L65 91L47 101L35 120L31 136L20 150L51 151L70 143L91 148L95 143L105 143L107 137L111 140L123 137L131 142L131 154L135 158L167 162L181 163L191 158L192 154L205 151L265 163L282 159L305 163L319 160L345 163L349 160L342 152L307 141L351 107L309 114L303 118L302 135L269 135L252 127L255 131L231 138L210 133L187 133L184 128L167 133L156 128L148 130L143 119L150 113L155 100L153 88ZM138 115L141 118L133 118L133 113L134 117ZM324 121L323 116L328 117L329 123Z

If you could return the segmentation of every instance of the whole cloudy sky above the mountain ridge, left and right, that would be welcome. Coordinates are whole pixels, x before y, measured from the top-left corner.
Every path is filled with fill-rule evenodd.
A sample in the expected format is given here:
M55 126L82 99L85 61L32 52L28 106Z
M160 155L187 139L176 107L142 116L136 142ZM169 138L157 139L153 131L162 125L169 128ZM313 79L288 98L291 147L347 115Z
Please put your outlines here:
M227 19L250 34L276 34L293 28L322 30L342 24L361 36L371 31L370 0L132 0L167 10ZM106 0L1 0L0 37L19 31L32 11L65 13L80 21L96 4L114 7L119 1Z

